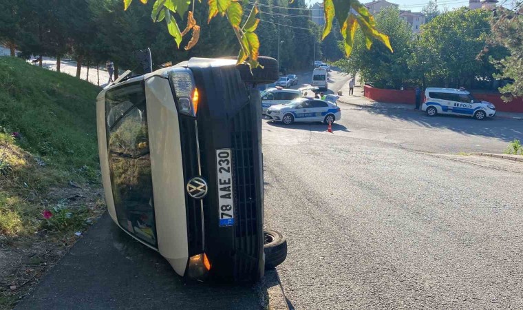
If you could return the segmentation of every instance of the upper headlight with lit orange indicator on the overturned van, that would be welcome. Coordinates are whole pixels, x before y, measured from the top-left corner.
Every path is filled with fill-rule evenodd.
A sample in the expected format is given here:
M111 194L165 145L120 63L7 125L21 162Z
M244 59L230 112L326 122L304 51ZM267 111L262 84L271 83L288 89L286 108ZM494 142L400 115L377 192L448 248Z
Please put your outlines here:
M200 94L195 86L193 72L189 68L173 68L167 72L173 86L178 112L196 117Z

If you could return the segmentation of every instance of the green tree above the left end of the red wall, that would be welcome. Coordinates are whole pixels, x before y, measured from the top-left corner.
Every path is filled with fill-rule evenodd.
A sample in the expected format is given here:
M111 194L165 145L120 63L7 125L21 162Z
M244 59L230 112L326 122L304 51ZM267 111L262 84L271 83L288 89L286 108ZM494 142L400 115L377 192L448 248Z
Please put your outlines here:
M376 87L399 89L410 77L407 59L411 54L412 30L400 18L396 8L379 12L376 28L389 36L394 53L383 44L375 44L369 51L365 50L366 39L362 32L356 32L350 58L338 64L349 74L360 72L365 81L372 82Z

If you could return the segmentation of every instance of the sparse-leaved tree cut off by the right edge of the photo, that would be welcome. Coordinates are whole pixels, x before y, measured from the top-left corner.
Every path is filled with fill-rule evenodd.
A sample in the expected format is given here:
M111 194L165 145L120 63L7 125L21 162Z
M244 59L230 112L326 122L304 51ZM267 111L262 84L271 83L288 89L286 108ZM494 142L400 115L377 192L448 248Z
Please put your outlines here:
M504 94L503 100L511 101L515 96L523 96L523 3L518 1L513 11L497 8L491 25L493 42L504 46L511 53L501 60L491 57L491 62L501 71L494 77L512 81L499 88Z

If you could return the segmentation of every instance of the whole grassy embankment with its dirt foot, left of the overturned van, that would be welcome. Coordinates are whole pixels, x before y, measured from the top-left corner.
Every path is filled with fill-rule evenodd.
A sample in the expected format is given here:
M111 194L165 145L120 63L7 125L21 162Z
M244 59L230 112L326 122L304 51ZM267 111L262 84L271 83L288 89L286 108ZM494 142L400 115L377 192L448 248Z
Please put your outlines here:
M0 262L0 308L12 306L27 278L18 270L27 267L23 254L34 267L40 250L32 247L53 244L44 252L68 247L74 232L99 214L99 91L67 74L0 57L0 257L6 258ZM19 262L7 265L9 251L22 256Z

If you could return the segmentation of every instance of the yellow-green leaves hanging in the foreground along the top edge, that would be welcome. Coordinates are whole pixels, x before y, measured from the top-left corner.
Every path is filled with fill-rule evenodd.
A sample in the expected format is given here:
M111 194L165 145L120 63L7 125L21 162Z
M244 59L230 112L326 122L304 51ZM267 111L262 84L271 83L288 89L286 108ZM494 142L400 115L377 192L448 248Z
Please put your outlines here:
M124 10L129 8L131 1L132 0L123 0ZM144 4L148 2L148 0L140 1ZM193 7L189 10L191 0L156 0L151 12L151 19L153 19L154 22L164 20L167 23L169 34L174 38L178 48L184 35L191 30L193 31L191 41L186 45L185 50L193 48L193 46L198 43L200 37L200 26L197 25L193 15L194 1L195 0L192 0ZM290 0L290 2L292 3L292 0ZM248 3L248 1L208 0L207 3L209 5L207 23L220 14L222 17L227 18L233 28L233 32L240 45L237 63L247 63L251 68L258 67L259 39L255 30L260 20L256 18L256 14L259 12L256 3L252 10L250 10L243 24L243 6ZM372 39L374 38L385 44L392 52L389 37L378 31L374 17L372 17L367 8L358 0L323 0L323 8L325 13L325 26L323 28L322 39L325 39L332 30L332 22L334 21L334 17L336 17L343 37L346 56L349 56L352 51L354 34L358 27L360 27L363 32L367 49L371 47ZM178 14L180 19L184 19L184 15L188 10L186 28L180 31L174 14Z

